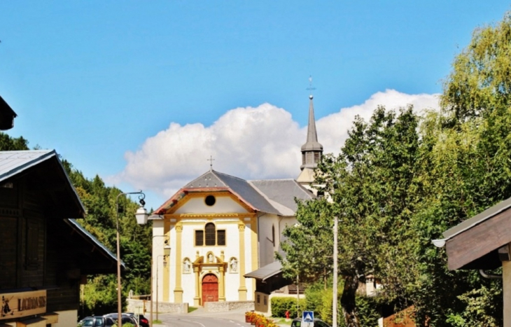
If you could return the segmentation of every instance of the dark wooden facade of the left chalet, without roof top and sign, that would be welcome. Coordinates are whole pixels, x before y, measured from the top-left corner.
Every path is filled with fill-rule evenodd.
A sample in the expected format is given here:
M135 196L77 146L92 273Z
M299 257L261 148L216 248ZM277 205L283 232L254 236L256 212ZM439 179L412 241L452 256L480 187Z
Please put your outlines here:
M69 219L85 212L55 151L32 164L0 180L0 294L45 290L46 312L77 310L83 277L116 260Z

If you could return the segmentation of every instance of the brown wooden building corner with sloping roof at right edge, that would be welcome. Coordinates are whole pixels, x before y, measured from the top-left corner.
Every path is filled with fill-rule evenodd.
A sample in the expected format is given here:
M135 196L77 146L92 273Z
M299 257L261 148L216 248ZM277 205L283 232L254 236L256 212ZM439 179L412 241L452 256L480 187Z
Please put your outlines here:
M511 198L443 233L433 243L447 249L449 270L503 269L504 327L511 327ZM495 276L493 276L495 277Z

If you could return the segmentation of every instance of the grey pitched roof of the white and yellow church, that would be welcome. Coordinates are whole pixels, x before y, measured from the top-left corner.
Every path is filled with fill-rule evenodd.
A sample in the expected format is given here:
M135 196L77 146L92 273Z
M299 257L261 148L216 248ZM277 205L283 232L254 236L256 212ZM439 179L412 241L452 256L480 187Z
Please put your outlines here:
M215 170L210 170L186 184L154 214L164 214L189 192L229 191L255 211L279 216L293 216L297 209L295 197L309 200L312 193L293 179L266 179L246 181Z

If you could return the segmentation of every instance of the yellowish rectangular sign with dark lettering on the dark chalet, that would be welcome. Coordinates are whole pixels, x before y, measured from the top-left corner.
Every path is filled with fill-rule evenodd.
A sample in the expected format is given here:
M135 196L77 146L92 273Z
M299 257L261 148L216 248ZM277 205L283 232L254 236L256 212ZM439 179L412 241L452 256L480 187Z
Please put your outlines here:
M3 293L0 297L0 320L46 312L46 291Z

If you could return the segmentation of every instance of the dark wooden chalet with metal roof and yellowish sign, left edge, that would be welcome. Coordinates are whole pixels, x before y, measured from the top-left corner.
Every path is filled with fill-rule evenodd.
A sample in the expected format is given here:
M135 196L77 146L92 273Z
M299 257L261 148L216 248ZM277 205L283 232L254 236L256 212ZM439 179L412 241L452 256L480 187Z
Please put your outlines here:
M76 326L85 276L116 273L84 215L55 151L0 151L0 327Z

